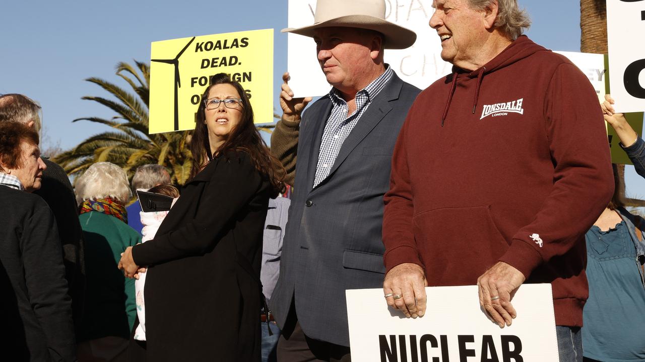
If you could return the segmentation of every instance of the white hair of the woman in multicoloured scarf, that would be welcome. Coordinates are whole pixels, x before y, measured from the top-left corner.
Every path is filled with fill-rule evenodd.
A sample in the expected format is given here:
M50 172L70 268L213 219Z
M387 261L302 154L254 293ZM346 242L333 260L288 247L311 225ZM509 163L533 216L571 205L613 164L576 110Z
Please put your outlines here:
M75 184L77 204L109 197L125 205L132 197L125 171L110 162L93 164Z

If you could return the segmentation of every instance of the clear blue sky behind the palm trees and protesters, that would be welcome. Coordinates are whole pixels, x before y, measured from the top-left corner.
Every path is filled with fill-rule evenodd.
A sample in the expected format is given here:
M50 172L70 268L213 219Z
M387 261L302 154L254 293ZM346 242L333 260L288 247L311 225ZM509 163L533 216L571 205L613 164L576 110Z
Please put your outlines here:
M579 1L519 3L533 19L528 31L533 41L579 52ZM45 141L71 148L107 129L84 121L72 124L73 119L113 115L100 104L81 100L84 95L106 95L84 79L99 77L127 86L114 75L115 65L149 61L152 41L274 28L274 103L279 109L277 94L286 70L286 35L279 30L286 24L287 0L7 1L0 12L0 93L24 93L39 101Z

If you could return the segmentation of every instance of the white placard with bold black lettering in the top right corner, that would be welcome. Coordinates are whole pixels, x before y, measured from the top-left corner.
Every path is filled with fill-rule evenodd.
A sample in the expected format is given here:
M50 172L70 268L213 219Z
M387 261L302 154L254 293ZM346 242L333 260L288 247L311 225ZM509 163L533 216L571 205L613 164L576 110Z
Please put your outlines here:
M645 0L607 0L611 97L617 112L645 111Z

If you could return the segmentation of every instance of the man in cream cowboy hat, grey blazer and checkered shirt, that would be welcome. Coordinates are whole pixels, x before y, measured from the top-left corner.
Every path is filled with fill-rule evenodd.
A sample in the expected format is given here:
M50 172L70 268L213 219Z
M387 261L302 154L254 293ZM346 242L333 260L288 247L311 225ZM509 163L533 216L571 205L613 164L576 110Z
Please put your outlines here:
M279 361L348 360L345 290L382 285L382 197L420 91L383 61L384 48L408 48L416 35L384 18L384 0L318 0L312 26L283 30L313 37L333 88L302 113L311 99L293 99L284 75L272 152L295 182L270 303Z

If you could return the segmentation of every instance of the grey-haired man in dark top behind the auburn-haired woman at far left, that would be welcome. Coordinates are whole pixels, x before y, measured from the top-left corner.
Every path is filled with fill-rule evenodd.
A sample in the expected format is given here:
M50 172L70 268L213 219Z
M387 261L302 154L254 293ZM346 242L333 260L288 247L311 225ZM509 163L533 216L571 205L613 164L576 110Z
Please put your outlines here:
M40 110L41 107L25 95L0 95L0 122L21 122L39 132ZM74 189L65 171L48 158L43 157L43 162L47 168L43 171L42 186L34 193L45 200L56 218L59 238L63 245L65 278L72 297L72 316L78 329L85 291L83 231L79 224Z

